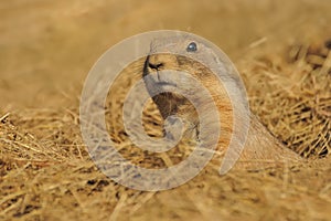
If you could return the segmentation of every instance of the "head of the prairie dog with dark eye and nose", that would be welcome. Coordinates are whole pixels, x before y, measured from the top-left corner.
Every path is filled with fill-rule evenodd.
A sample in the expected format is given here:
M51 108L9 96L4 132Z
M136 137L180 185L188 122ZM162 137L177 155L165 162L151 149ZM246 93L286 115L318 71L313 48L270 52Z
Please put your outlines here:
M226 105L227 99L226 103L229 104L223 84L227 84L229 88L232 85L236 87L238 76L232 74L229 61L226 57L221 59L222 61L210 45L194 36L156 39L150 44L150 54L145 62L143 76L149 75L149 78L145 80L146 87L150 94L158 93L160 88L171 91L173 87L199 94L200 90L193 86L193 78L188 80L179 73L185 72L206 87L215 99L222 99L223 105ZM160 74L166 70L173 72ZM221 73L222 82L215 73ZM163 92L152 98L164 119L173 114L196 117L194 107L180 94Z

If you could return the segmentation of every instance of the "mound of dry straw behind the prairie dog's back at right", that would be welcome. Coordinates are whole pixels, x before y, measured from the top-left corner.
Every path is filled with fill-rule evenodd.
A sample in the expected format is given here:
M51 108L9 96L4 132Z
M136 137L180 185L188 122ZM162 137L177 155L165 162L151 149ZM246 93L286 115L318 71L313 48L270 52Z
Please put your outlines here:
M306 158L331 150L330 69L330 41L321 40L290 45L281 57L260 56L243 73L253 112Z

